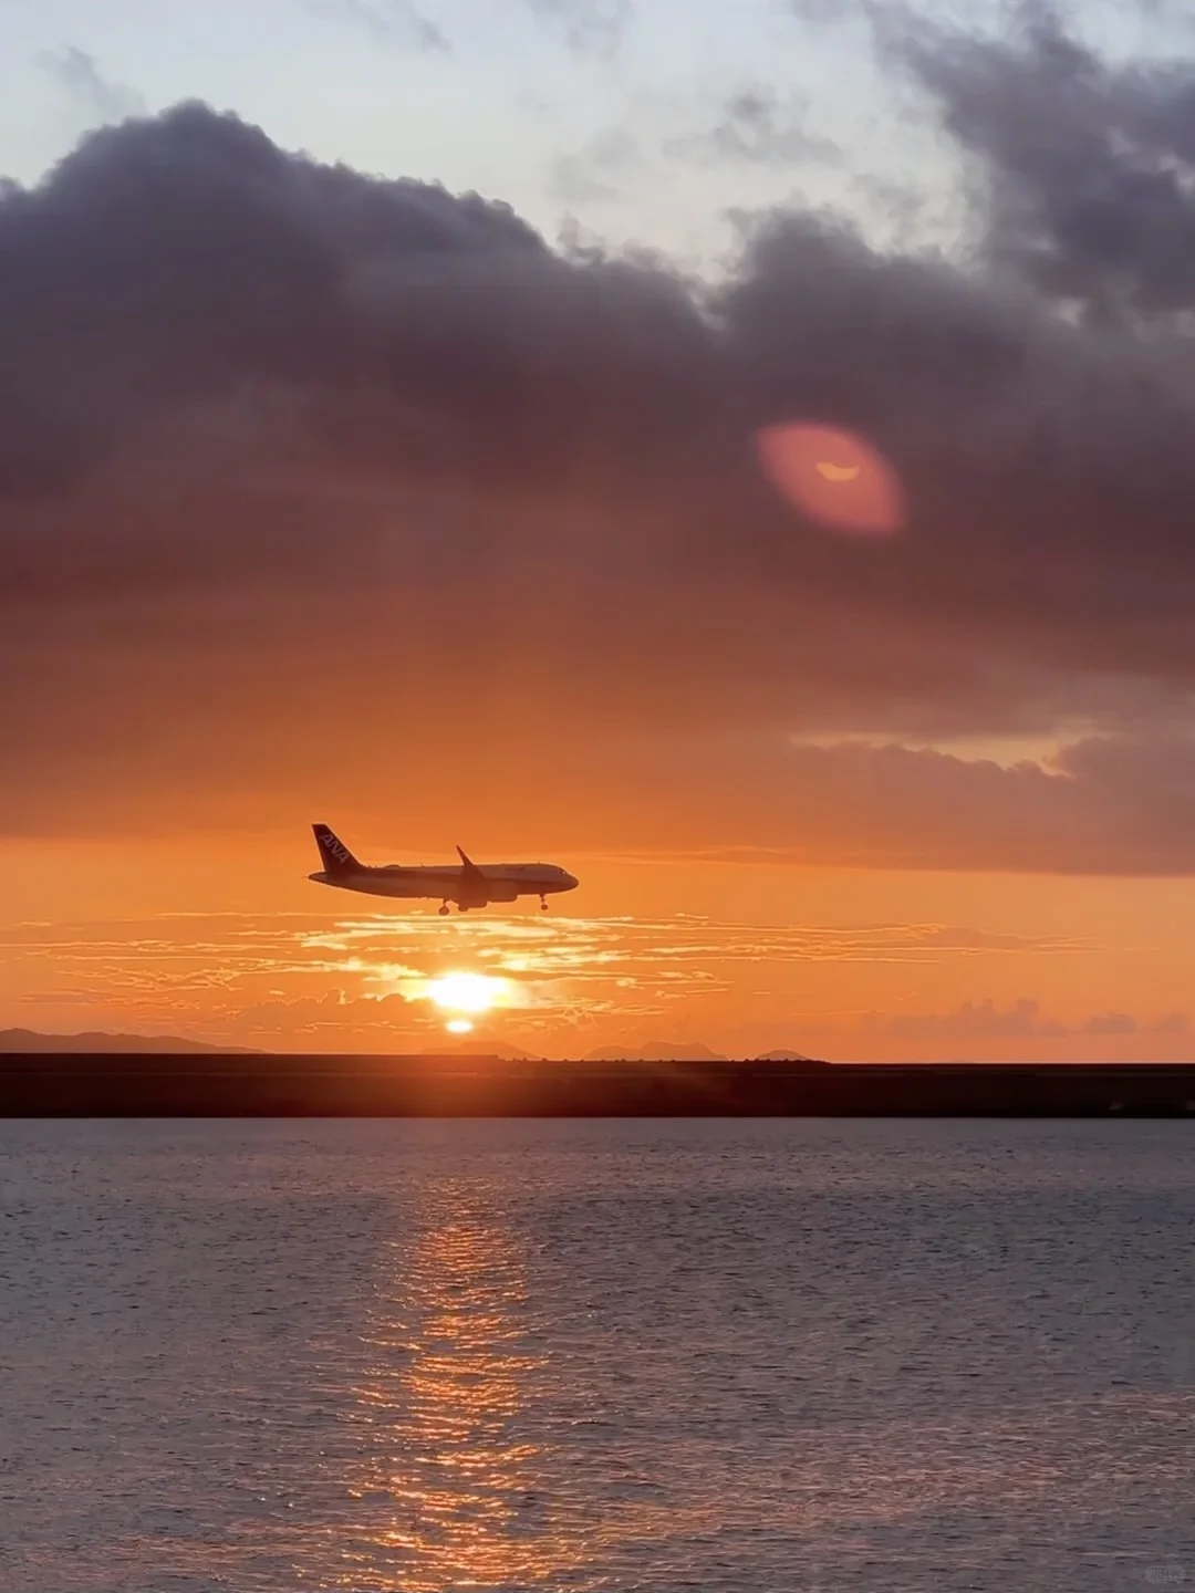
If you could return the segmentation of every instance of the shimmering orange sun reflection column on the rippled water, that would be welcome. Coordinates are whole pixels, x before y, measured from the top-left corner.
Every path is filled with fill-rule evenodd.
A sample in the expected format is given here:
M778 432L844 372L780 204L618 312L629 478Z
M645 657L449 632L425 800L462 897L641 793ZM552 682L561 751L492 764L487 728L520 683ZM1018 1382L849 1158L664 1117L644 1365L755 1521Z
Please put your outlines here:
M379 1282L352 1391L360 1467L347 1483L374 1525L341 1544L325 1585L559 1585L578 1544L551 1520L545 1446L521 1432L545 1357L515 1243L488 1215L457 1209L414 1247L395 1247L394 1263L409 1270Z

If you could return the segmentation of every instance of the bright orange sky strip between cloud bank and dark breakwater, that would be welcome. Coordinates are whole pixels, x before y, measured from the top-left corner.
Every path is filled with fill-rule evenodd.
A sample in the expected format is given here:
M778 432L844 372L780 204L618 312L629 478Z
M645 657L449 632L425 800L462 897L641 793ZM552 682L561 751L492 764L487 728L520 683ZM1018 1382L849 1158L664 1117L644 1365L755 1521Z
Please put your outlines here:
M650 1040L835 1059L1189 1055L1182 881L566 862L582 889L547 914L445 921L308 883L301 833L8 843L0 1026L421 1050L451 1016L421 981L464 970L507 978L515 1000L475 1020L478 1039L554 1056Z

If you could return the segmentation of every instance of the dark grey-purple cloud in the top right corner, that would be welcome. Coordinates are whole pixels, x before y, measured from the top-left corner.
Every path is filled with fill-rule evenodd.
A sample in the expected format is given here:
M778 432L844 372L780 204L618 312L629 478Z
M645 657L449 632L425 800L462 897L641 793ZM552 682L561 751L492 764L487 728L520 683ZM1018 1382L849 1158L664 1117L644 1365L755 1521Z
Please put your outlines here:
M918 25L895 48L978 164L988 258L1112 322L1195 306L1195 64L1109 65L1058 6L1004 41Z

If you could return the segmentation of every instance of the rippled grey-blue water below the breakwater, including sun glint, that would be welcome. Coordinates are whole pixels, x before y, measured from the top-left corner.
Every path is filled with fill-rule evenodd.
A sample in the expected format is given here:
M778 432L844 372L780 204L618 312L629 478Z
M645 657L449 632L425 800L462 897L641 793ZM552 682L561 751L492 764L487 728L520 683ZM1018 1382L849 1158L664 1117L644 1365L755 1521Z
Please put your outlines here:
M3 1593L1195 1587L1187 1123L0 1123Z

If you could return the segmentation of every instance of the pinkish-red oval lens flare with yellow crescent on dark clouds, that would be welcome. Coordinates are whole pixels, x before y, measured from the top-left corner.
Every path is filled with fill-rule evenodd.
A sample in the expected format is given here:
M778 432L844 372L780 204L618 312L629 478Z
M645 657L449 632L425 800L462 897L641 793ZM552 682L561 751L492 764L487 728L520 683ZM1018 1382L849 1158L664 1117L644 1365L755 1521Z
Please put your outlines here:
M755 433L760 465L776 491L811 519L864 535L892 535L905 500L892 465L854 432L787 422Z

